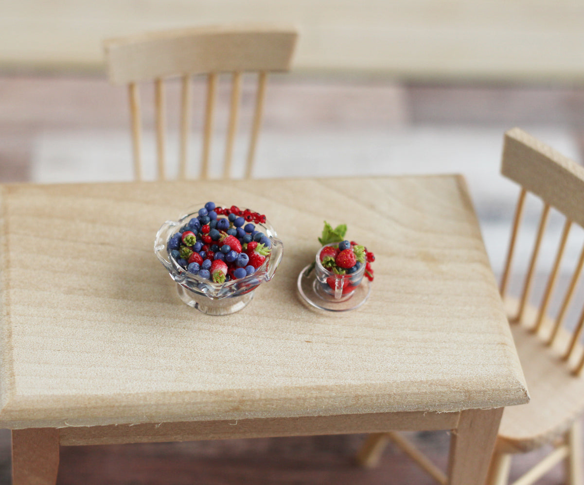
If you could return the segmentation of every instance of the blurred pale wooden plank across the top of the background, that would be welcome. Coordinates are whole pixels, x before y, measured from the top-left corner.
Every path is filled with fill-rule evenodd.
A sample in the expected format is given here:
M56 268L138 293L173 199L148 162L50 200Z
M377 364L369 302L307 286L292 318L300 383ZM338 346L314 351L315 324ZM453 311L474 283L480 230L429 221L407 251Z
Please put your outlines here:
M2 2L0 68L96 71L108 37L223 22L296 25L300 71L584 79L578 0Z

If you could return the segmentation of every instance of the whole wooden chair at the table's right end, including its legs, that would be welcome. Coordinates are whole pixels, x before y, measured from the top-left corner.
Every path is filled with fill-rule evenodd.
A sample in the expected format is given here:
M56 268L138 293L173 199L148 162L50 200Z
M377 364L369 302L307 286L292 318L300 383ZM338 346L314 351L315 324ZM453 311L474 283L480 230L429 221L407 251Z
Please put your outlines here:
M584 309L575 328L565 325L568 310L578 287L584 266L584 248L571 274L569 284L559 290L558 275L571 228L584 226L584 168L537 141L519 128L505 135L502 174L521 186L513 221L507 260L503 269L500 293L505 301L517 353L531 395L531 402L506 408L501 420L493 455L488 485L505 485L509 479L510 461L515 453L533 451L551 445L553 451L513 485L528 485L564 460L566 483L582 485L582 437L580 417L584 412L584 352L579 338L584 328ZM541 198L540 221L527 263L518 298L509 295L508 287L513 257L519 252L520 222L528 193ZM533 282L542 242L547 236L550 212L564 219L558 248L548 273L540 301L533 303ZM547 239L546 239L547 240ZM529 251L529 248L526 248ZM551 302L558 301L559 310L551 316ZM441 470L395 433L374 434L361 448L358 461L373 466L387 441L404 450L439 483L446 483Z

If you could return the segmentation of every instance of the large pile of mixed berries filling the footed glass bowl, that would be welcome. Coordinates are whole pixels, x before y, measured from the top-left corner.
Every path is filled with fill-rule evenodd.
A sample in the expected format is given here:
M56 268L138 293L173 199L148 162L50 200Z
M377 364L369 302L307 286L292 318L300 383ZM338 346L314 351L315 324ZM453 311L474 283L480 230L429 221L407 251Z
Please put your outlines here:
M272 241L254 225L263 222L266 216L258 212L207 202L171 236L168 251L179 266L203 280L238 280L269 259Z

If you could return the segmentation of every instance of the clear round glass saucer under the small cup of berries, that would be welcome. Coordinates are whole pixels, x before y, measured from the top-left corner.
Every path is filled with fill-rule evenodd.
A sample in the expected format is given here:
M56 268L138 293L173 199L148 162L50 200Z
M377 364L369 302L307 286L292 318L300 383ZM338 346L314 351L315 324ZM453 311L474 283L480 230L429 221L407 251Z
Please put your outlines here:
M308 276L305 275L311 266L312 264L305 266L300 271L297 280L298 293L302 297L301 300L311 308L317 308L327 312L348 312L349 310L359 308L369 298L371 283L367 278L363 278L361 284L354 290L353 295L349 299L336 300L333 296L318 291L318 285L321 282L317 280L314 268Z

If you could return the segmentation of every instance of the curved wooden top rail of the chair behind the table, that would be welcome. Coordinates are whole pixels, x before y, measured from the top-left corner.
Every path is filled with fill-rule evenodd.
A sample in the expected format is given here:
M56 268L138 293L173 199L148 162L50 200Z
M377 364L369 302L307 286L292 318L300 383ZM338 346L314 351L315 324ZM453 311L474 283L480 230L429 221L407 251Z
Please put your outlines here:
M178 74L287 71L297 32L277 25L221 25L171 29L104 42L115 84Z

